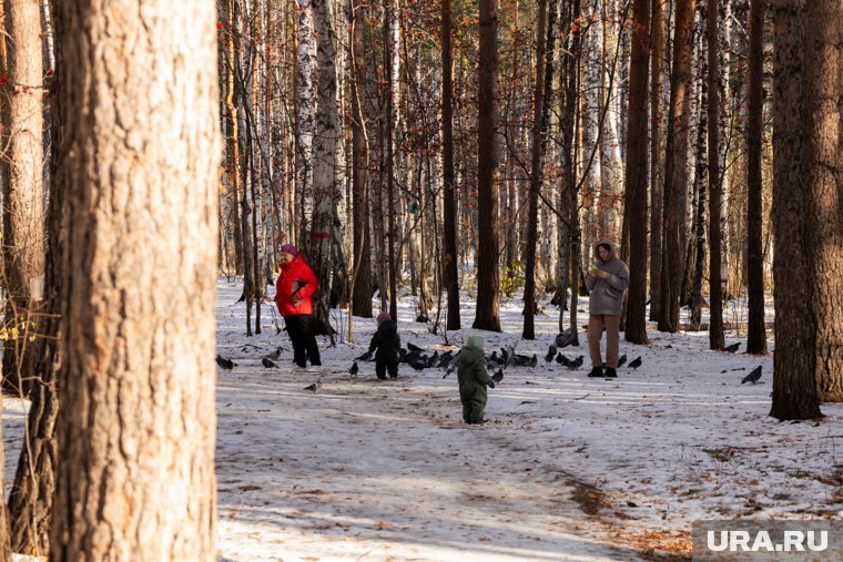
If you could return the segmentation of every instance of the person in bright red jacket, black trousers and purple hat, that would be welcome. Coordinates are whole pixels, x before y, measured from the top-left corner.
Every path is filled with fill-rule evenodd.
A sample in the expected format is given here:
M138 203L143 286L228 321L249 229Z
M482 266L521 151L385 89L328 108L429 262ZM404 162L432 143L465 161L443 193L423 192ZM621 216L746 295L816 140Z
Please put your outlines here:
M281 273L275 283L275 304L284 317L290 340L293 343L293 358L304 369L307 359L311 365L322 365L319 347L314 336L313 294L318 280L307 260L292 244L281 247Z

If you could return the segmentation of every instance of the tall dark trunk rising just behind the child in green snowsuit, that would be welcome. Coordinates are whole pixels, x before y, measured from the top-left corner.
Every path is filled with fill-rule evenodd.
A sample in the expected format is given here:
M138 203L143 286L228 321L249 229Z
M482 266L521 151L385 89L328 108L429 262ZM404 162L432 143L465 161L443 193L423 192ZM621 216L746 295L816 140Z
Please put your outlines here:
M500 270L498 267L497 188L497 0L480 0L480 65L477 173L477 313L473 327L500 331Z

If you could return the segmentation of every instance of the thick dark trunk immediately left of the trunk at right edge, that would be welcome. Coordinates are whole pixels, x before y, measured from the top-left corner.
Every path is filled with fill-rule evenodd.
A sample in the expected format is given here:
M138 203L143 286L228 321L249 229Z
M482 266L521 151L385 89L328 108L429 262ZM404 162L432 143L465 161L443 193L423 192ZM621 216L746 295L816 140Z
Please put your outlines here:
M775 355L770 416L804 420L822 416L815 379L816 325L811 306L814 287L805 247L806 23L804 1L772 0L773 57L773 280ZM821 22L810 22L813 27Z

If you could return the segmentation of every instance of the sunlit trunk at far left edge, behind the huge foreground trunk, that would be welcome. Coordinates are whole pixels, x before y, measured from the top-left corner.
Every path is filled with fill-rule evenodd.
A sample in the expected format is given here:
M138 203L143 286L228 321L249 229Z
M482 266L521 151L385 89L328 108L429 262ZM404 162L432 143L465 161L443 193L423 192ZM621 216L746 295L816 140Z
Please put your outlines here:
M38 0L6 0L3 131L3 288L6 328L3 388L28 395L35 357L30 336L43 298L43 92L41 7ZM40 331L40 327L35 328ZM17 334L17 335L16 335Z

